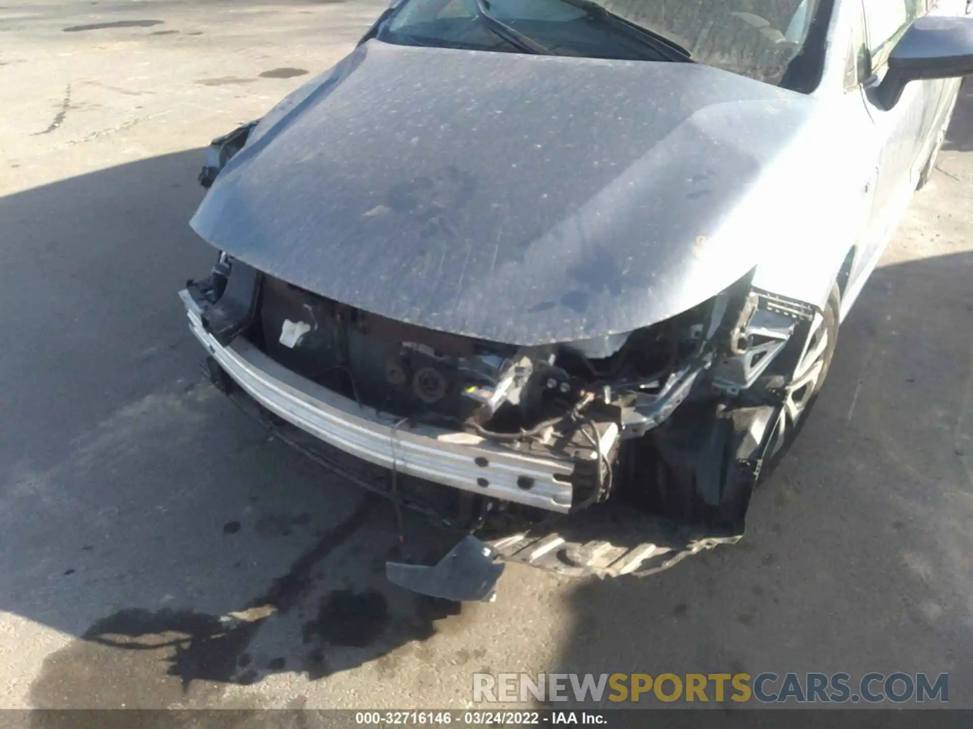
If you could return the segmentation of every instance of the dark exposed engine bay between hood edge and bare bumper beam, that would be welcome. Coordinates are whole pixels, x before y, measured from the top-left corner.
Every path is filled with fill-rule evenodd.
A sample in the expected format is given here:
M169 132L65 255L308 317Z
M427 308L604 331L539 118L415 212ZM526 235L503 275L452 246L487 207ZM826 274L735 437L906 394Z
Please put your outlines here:
M810 314L742 281L642 330L519 347L392 321L226 256L188 294L221 343L244 335L273 362L392 416L397 428L434 426L570 461L563 511L624 492L669 518L731 531L741 528L766 439L749 420L773 404L773 390L755 385ZM534 486L528 476L517 485ZM475 523L483 526L486 511L523 515L511 502L478 504Z

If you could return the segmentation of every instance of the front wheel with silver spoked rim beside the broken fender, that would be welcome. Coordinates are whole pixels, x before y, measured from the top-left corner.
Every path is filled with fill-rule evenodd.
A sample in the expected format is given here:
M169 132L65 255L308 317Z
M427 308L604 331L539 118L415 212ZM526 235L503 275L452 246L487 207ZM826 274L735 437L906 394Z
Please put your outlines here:
M760 480L768 478L784 457L798 434L804 428L811 408L821 392L824 379L828 376L831 360L838 344L838 316L841 307L841 293L834 285L824 310L814 315L811 328L803 342L795 342L798 350L792 350L797 360L794 375L789 383L783 382L783 407L777 415L770 443L764 456L764 468ZM783 358L790 363L794 359Z

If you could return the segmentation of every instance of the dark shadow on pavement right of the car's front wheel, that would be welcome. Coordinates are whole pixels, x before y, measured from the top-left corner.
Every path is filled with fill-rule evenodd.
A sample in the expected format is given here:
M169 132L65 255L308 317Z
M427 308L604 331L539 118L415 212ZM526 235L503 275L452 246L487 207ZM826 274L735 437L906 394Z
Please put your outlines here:
M971 281L971 254L878 270L746 537L652 578L579 585L551 670L949 673L966 705Z

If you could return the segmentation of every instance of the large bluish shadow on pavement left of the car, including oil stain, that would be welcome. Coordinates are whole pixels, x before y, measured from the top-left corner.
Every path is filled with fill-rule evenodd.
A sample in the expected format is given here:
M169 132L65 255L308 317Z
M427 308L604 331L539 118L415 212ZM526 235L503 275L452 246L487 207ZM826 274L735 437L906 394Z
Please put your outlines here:
M387 557L454 537L407 515L400 543L387 504L203 384L176 296L215 260L187 226L201 158L0 199L3 331L20 343L0 352L0 379L18 383L0 411L0 554L18 565L0 608L80 637L45 659L35 706L201 706L471 614L384 579Z

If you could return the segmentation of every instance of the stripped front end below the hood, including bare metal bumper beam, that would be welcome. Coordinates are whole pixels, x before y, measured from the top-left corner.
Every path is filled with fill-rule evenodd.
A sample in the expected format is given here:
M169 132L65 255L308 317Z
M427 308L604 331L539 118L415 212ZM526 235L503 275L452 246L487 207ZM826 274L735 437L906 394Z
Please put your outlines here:
M484 539L456 554L616 575L742 534L814 318L749 278L641 330L540 346L389 320L225 254L181 297L220 390L349 480ZM414 572L389 576L429 592Z

